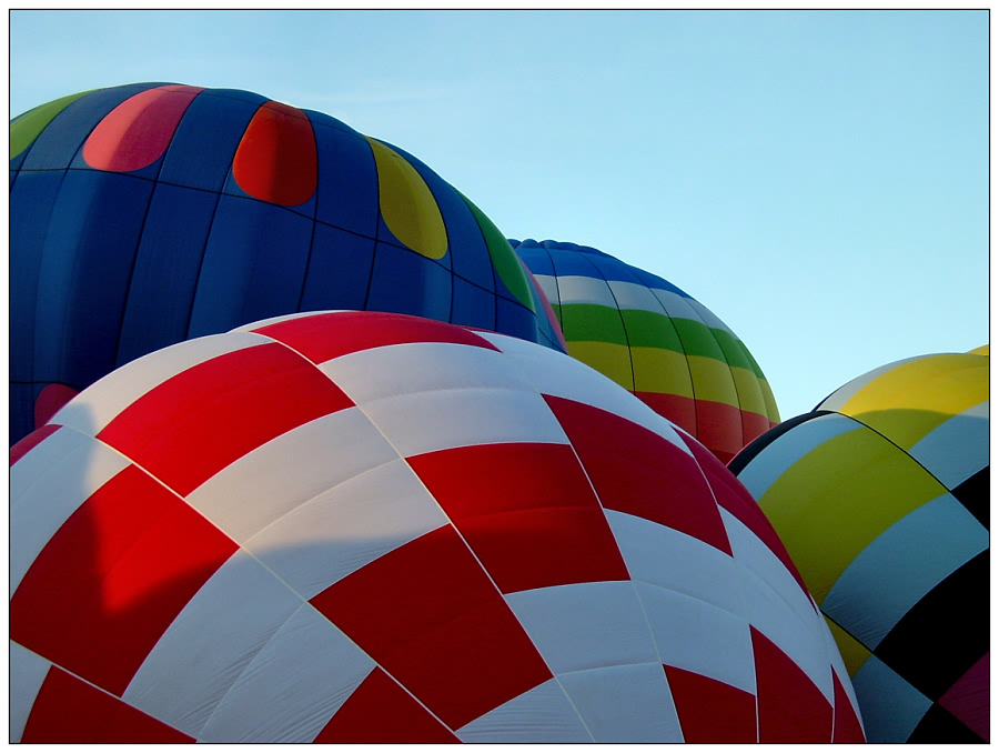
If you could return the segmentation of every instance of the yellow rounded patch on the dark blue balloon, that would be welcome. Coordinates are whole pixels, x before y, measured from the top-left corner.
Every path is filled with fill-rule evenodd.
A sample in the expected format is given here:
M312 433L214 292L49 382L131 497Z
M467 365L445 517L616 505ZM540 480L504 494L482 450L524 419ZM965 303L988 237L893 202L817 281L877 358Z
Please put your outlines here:
M410 162L381 141L364 137L379 171L379 207L389 230L428 259L447 253L447 230L430 187Z

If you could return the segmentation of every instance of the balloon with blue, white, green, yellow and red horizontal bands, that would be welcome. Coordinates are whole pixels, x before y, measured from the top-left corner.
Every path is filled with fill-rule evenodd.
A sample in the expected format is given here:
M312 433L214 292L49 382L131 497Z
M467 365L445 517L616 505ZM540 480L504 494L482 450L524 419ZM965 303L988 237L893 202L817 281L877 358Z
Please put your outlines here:
M723 462L780 420L743 341L673 283L587 245L533 239L511 244L555 309L568 352Z

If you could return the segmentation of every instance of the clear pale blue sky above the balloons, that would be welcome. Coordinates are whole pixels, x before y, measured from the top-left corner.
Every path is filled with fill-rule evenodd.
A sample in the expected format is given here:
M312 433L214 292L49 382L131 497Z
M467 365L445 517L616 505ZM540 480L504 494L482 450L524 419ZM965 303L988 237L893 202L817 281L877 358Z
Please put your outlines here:
M508 238L683 288L787 419L989 340L988 11L20 11L11 117L259 92L426 162Z

